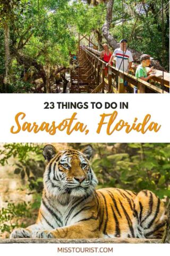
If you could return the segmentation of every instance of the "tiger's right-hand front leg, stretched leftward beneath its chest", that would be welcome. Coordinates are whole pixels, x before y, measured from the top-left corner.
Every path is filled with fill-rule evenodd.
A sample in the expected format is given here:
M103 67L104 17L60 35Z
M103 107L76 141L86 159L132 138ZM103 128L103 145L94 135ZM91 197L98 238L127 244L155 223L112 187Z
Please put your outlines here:
M101 235L96 224L96 222L85 223L85 221L81 221L71 226L57 228L50 231L37 231L34 237L63 239L99 238Z

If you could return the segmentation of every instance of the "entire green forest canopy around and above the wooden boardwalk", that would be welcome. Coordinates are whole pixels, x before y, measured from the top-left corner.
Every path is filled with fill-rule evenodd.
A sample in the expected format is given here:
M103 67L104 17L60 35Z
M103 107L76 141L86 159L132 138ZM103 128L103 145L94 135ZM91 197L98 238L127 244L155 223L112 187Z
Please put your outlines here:
M141 1L111 2L109 33L119 42L130 37ZM51 92L59 74L71 68L70 54L77 50L79 33L91 36L99 50L107 41L102 30L107 1L1 0L0 16L1 92ZM160 65L164 54L168 70L168 0L164 1L164 31L162 25L162 1L146 0L129 46L150 54Z

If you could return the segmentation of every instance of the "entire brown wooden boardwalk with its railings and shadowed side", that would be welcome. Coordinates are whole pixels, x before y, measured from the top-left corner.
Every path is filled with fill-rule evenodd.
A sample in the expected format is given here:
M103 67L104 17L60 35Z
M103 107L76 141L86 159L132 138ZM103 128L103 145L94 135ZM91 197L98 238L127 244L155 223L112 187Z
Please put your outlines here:
M90 47L80 47L70 73L71 93L124 93L125 81L128 82L129 93L133 93L134 89L137 93L169 92L169 73L164 72L163 80L163 71L156 70L155 76L148 83L134 76L138 65L133 63L131 74L109 67L106 77L106 62L99 55L99 51Z

